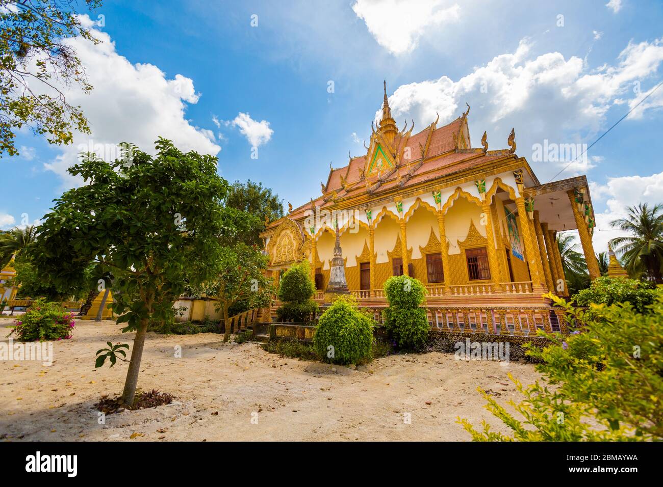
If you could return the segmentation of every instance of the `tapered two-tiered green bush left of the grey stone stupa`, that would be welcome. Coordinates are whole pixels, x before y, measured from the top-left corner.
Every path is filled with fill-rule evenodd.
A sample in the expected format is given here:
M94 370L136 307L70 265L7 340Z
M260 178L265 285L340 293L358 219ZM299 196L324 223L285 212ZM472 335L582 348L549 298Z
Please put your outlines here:
M311 299L315 290L308 261L294 264L286 270L278 285L277 296L283 301L276 309L278 321L312 321L318 311L318 304Z

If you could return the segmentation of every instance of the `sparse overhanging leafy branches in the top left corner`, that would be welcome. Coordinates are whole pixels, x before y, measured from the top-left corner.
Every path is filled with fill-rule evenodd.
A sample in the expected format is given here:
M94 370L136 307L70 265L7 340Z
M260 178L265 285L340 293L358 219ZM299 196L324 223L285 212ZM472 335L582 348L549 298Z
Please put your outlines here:
M86 0L90 9L101 0ZM62 86L88 93L85 68L64 39L80 36L97 44L74 12L72 0L0 0L0 156L18 154L16 132L24 126L47 134L51 144L70 144L72 131L90 133L80 107Z

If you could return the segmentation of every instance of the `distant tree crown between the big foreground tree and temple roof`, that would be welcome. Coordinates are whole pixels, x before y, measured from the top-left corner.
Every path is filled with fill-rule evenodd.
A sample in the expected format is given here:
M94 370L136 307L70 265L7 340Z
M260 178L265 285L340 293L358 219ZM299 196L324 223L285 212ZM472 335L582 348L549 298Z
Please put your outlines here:
M265 217L274 221L283 216L283 204L278 195L273 194L270 188L264 188L262 183L251 180L246 183L235 181L228 191L225 203L257 217L255 225L241 235L243 242L249 245L261 245L259 234L263 231Z

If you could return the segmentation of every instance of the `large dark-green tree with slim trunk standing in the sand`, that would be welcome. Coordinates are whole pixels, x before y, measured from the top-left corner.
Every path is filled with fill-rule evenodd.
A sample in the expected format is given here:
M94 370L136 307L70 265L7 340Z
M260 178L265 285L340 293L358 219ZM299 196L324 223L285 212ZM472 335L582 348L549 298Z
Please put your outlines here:
M35 264L54 280L76 279L93 262L95 272L112 272L113 310L135 331L122 394L133 404L149 319L172 309L164 295L184 291L184 276L198 284L215 275L221 238L235 233L221 205L227 182L216 158L186 154L159 138L156 156L123 145L123 158L94 154L69 169L87 183L66 191L44 217ZM133 159L127 156L133 152ZM196 272L188 272L190 266Z

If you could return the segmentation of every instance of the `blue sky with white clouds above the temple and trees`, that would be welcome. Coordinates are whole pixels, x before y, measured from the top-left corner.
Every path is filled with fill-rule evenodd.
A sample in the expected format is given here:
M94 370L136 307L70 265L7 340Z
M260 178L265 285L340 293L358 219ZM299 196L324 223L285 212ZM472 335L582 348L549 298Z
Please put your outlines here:
M149 149L158 135L298 206L330 161L365 152L383 79L399 127L414 119L417 132L436 111L446 123L467 102L474 145L487 131L491 149L506 147L514 127L516 152L548 182L570 161L533 160L534 144L589 144L663 80L660 1L107 0L89 15L103 44L71 42L95 89L70 100L93 134L64 148L19 134L23 154L0 160L3 228L80 184L66 175L79 146ZM663 87L557 177L591 182L597 250L626 205L663 201L662 107Z

